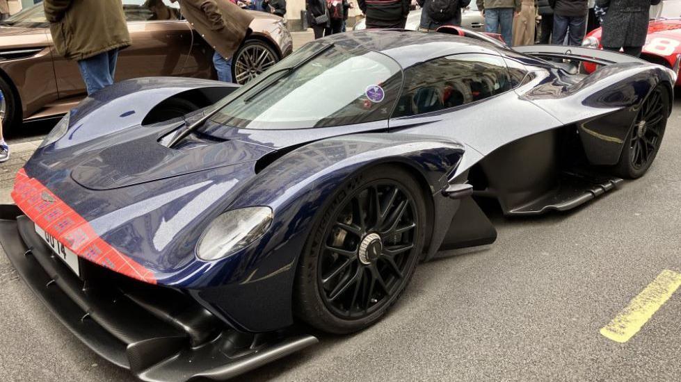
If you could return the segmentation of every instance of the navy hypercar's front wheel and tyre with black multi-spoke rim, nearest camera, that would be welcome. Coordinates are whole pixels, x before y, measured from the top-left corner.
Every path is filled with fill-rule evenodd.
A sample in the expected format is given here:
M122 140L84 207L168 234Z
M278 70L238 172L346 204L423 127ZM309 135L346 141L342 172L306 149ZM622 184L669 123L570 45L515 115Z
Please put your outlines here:
M411 279L424 246L425 196L401 167L353 176L317 217L296 273L296 315L329 333L374 324Z

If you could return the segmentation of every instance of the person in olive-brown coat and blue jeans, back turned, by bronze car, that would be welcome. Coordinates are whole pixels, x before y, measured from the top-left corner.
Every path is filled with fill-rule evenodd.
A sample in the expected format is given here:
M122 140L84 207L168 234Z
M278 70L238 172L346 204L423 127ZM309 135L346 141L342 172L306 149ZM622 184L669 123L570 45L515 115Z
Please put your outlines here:
M120 0L45 0L54 47L76 60L88 94L113 84L118 50L130 45Z

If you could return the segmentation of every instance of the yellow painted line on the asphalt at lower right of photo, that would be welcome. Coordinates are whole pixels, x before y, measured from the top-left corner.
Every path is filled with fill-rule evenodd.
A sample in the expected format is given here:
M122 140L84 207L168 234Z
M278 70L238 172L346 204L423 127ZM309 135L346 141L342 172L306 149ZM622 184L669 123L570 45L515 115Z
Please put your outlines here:
M627 342L680 286L681 274L664 269L600 333L610 340Z

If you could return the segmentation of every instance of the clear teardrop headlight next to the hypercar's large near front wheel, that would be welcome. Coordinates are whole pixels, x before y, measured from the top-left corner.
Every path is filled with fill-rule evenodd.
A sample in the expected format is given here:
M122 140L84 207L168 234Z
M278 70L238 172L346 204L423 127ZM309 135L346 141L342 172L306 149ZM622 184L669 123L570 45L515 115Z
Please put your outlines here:
M273 213L269 207L247 207L218 216L208 225L196 245L201 260L218 260L248 247L269 229Z

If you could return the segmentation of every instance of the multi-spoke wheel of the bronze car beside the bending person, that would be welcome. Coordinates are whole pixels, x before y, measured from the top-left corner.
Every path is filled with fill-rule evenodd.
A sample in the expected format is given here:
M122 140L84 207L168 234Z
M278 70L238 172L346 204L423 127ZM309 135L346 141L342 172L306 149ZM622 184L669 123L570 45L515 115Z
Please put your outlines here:
M269 44L261 40L246 41L232 60L232 77L243 85L279 62L279 55Z

